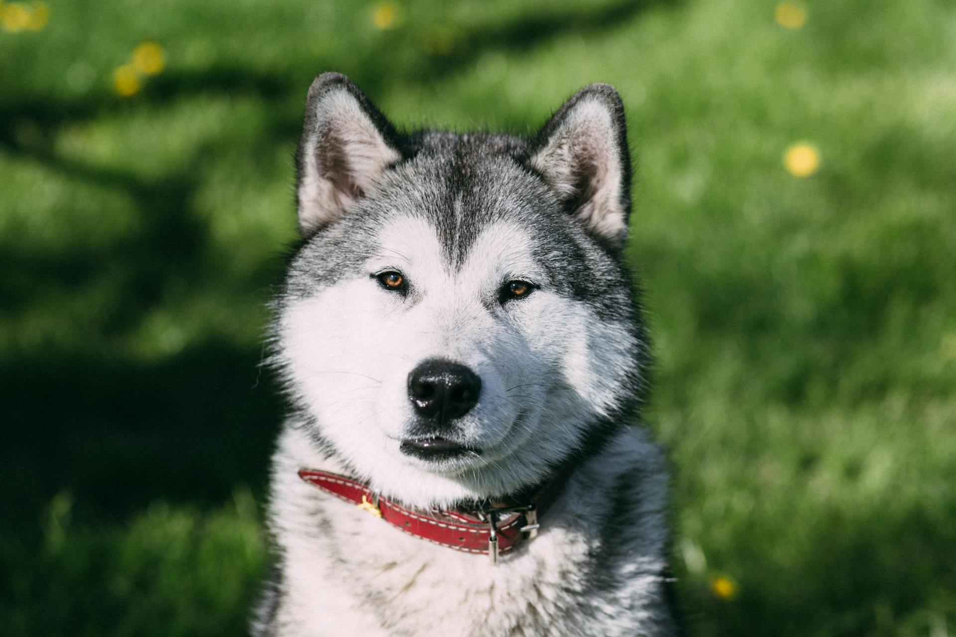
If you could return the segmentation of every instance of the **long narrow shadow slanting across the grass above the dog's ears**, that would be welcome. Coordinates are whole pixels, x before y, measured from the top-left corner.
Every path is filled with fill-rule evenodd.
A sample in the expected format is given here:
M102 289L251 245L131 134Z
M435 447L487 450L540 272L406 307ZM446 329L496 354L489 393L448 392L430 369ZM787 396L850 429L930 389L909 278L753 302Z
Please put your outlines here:
M350 74L374 99L393 85L433 83L460 73L488 51L526 51L569 33L613 29L650 7L674 4L677 4L675 0L624 0L596 9L551 11L501 25L478 24L455 29L453 48L444 53L422 55L412 63L396 60L391 44L382 42L380 47L350 51L340 61L295 60L276 73L223 63L203 71L173 70L154 77L137 101L139 105L161 105L199 95L253 95L272 104L297 100L296 108L287 115L277 115L262 135L262 138L274 139L278 132L281 138L296 138L306 91L315 75L323 71ZM50 96L0 100L0 144L14 151L47 146L57 127L131 108L133 106L123 99L103 94L58 100ZM273 113L281 113L281 109Z

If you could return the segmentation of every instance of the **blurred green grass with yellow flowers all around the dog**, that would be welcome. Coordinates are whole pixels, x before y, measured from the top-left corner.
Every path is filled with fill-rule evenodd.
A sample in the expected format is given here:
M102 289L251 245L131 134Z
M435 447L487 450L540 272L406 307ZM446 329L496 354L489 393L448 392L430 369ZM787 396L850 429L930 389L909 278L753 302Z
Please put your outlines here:
M618 87L691 634L956 631L951 0L72 0L0 26L0 634L245 632L263 306L326 70L402 126L528 132Z

